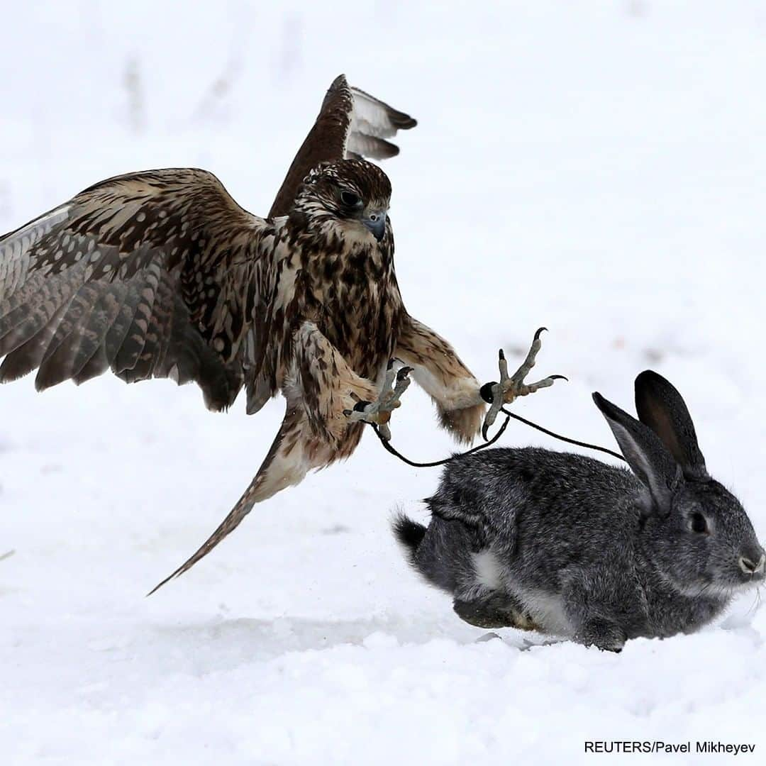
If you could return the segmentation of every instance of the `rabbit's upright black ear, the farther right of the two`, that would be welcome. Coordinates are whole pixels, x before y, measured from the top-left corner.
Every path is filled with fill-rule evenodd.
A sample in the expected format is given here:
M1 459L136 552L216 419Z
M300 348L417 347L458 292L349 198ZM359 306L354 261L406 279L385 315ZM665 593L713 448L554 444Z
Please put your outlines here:
M705 458L697 444L692 417L681 394L652 370L636 378L636 411L662 440L681 466L683 475L692 481L709 481Z

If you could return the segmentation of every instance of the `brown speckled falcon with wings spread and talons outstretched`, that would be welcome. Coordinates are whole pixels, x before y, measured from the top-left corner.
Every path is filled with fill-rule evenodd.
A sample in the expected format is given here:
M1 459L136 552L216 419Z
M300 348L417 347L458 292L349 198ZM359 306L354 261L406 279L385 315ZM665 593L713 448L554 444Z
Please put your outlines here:
M387 139L414 125L340 76L268 218L237 205L205 170L164 169L109 178L0 237L0 381L37 369L43 390L111 369L126 382L195 381L216 411L241 388L248 414L280 392L286 399L250 486L160 585L256 502L348 457L364 422L388 421L410 373L458 440L480 429L480 384L404 309L391 185L362 159L395 155ZM502 401L552 384L523 381L538 348L535 336L522 374L495 385Z

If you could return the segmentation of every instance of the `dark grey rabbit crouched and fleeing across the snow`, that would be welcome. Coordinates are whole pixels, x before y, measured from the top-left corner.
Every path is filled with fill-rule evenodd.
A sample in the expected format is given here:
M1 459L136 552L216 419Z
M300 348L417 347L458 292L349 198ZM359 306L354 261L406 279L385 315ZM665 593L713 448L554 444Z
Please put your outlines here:
M593 394L630 470L486 450L447 463L427 527L394 518L411 565L452 594L459 617L620 651L692 633L763 582L764 549L709 476L681 394L650 370L635 391L640 420Z

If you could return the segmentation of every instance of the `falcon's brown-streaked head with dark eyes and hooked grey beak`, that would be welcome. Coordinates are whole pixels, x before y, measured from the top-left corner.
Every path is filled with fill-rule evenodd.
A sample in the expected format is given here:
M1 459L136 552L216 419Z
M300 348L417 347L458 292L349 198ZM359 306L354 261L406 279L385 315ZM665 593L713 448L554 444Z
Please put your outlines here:
M343 234L367 236L380 242L388 229L391 182L388 176L363 159L339 159L317 165L303 181L293 210L309 223L330 221Z

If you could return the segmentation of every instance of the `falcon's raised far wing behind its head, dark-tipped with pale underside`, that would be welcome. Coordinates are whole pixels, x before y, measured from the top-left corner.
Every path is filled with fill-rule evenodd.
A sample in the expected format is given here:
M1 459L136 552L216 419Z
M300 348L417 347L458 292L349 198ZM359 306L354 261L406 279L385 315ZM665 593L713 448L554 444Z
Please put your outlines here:
M303 141L293 164L287 171L269 217L286 215L303 178L320 162L348 157L388 159L399 153L399 147L386 139L398 130L414 128L417 122L370 96L364 90L349 86L345 75L333 80L313 128Z

